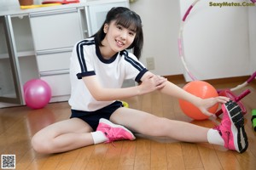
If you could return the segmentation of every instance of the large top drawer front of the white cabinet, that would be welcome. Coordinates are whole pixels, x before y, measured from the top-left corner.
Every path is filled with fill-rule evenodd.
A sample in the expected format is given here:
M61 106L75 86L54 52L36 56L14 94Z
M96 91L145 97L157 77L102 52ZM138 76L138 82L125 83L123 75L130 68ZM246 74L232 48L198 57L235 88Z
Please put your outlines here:
M70 48L83 38L78 8L30 14L37 51Z

